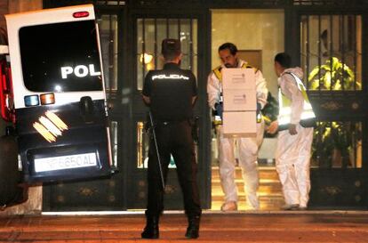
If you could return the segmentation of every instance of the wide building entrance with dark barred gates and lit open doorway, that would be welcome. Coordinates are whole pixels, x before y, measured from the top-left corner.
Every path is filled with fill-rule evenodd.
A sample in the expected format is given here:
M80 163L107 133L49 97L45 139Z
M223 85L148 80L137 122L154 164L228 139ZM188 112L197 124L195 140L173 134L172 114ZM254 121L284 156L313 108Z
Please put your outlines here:
M49 7L61 3L45 2L52 3ZM364 148L368 139L364 131L368 126L364 80L367 72L362 68L366 62L366 48L362 45L367 38L364 34L366 7L359 9L356 4L341 15L346 4L339 1L302 1L302 4L301 1L237 1L231 5L228 1L205 1L208 4L177 1L170 3L173 7L167 12L168 1L94 2L114 4L100 6L98 15L102 58L108 63L104 74L111 108L113 157L120 172L102 182L44 185L44 211L146 207L147 137L143 124L147 108L141 101L140 90L148 69L160 68L162 64L159 45L163 37L182 40L185 51L182 67L192 69L197 78L197 161L204 208L218 210L223 202L217 141L206 101L206 80L211 69L220 65L217 50L225 42L236 44L242 59L262 71L268 91L274 97L277 93L273 68L276 53L290 53L294 64L305 69L303 81L308 82L310 100L321 122L315 130L310 205L366 208L368 150ZM251 2L257 10L246 9ZM331 3L339 4L332 8ZM338 57L340 62L331 57ZM325 65L329 60L330 64ZM342 63L349 63L351 71L341 73ZM308 75L321 65L324 69L308 81ZM329 68L338 70L328 71ZM339 75L334 76L335 73ZM265 137L260 147L260 210L271 209L268 203L275 209L284 203L280 190L274 193L269 189L271 182L275 182L274 189L278 187L273 160L275 145L275 138ZM170 173L170 182L177 182L175 170ZM239 169L236 169L236 178L239 209L246 209ZM278 195L277 201L272 201L276 198L272 197L274 194ZM179 185L169 183L166 209L182 208L180 195Z

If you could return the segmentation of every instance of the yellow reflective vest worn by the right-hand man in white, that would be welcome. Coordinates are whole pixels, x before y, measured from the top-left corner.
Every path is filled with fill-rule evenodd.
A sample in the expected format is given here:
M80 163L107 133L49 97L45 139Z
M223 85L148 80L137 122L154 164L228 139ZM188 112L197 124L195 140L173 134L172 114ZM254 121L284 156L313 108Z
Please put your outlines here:
M303 127L314 127L316 126L316 115L313 112L312 105L308 99L308 94L306 88L301 82L300 78L295 76L293 73L288 72L287 74L294 77L297 83L298 89L304 98L303 111L300 117L300 125ZM278 89L278 105L279 105L279 115L278 115L278 130L282 131L288 129L290 120L292 118L292 101L287 98L284 93L281 92L281 88Z

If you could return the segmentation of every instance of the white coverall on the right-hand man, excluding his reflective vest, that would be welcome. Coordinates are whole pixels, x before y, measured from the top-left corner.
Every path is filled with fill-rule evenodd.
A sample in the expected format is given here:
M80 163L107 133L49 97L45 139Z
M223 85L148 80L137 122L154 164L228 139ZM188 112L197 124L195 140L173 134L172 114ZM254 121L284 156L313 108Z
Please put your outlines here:
M292 124L297 124L298 134L289 134L289 130L280 131L277 137L276 170L283 185L286 205L307 207L310 190L309 165L310 150L313 141L313 127L300 126L304 98L291 74L303 77L300 68L285 69L278 78L278 85L291 103Z

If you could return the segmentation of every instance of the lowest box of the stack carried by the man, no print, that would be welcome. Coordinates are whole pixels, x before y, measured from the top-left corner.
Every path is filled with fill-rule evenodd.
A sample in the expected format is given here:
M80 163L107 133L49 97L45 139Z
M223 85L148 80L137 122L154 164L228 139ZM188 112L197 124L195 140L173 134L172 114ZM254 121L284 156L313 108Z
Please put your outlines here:
M222 131L228 137L256 137L256 111L224 111Z

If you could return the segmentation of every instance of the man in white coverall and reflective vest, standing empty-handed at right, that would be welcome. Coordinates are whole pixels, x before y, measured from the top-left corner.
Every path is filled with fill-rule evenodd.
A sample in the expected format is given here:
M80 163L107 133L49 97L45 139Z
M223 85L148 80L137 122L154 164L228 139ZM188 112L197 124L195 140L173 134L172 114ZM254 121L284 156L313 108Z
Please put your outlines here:
M283 186L285 210L306 209L310 179L310 150L316 116L302 84L303 72L291 68L287 53L275 57L279 85L279 116L268 126L268 133L279 131L276 146L276 170Z

